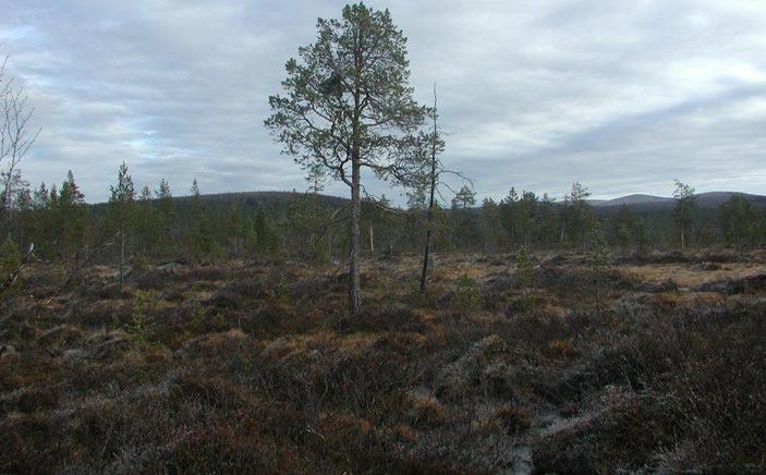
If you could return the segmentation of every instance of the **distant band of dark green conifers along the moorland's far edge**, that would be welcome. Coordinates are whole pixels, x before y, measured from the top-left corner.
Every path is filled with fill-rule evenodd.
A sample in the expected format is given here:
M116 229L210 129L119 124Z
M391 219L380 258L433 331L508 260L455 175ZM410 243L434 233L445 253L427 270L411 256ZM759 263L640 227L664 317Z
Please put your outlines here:
M696 205L693 188L674 209L594 208L589 192L575 183L563 200L548 194L518 193L481 203L469 185L449 206L429 203L423 193L408 194L397 207L385 196L362 202L360 248L367 256L413 253L429 238L437 252L495 254L532 249L586 249L594 232L616 252L649 252L681 246L757 246L766 241L764 209L733 194L719 208ZM677 187L678 187L677 186ZM73 269L84 263L205 263L230 258L345 260L349 252L348 202L323 195L313 184L263 202L257 194L214 199L197 181L175 197L160 179L139 191L125 163L117 172L105 204L89 205L70 171L61 184L23 186L10 199L4 234L23 254L35 244L38 258ZM124 257L121 259L121 257Z

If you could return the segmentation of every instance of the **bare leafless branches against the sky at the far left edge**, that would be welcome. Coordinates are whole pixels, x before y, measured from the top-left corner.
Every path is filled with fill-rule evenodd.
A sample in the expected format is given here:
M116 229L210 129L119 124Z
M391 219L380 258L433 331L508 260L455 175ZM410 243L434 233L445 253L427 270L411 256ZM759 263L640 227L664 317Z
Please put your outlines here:
M39 129L28 130L35 108L29 106L24 87L5 74L7 64L8 57L0 65L0 220L5 218L14 190L23 184L19 163L40 133Z

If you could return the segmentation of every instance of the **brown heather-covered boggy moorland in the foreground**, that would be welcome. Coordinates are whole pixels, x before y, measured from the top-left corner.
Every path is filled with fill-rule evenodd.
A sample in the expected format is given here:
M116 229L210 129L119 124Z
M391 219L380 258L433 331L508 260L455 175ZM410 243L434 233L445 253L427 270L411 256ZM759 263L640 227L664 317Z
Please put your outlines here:
M35 264L0 320L2 473L766 470L766 253L341 267ZM671 279L668 279L668 276Z

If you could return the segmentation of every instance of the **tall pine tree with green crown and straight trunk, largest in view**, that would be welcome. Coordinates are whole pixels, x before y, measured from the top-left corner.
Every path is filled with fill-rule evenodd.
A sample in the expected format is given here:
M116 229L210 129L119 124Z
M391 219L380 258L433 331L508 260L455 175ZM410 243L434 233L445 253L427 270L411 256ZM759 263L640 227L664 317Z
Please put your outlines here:
M408 154L426 108L413 98L406 38L388 10L346 5L317 22L317 40L285 65L283 95L269 97L266 120L282 151L304 169L323 170L351 190L349 310L358 313L363 168L380 179L412 181Z

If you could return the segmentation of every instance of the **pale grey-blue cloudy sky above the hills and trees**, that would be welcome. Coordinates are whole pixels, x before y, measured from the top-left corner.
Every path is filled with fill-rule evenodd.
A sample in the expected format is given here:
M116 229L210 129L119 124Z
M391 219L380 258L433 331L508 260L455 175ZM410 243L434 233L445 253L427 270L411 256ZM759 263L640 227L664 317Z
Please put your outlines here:
M764 1L367 3L409 37L417 97L437 84L443 159L479 196L574 181L667 196L673 178L766 194ZM263 127L267 97L343 4L0 0L0 52L42 127L26 179L71 169L98 202L125 160L138 185L167 176L177 195L194 176L204 193L305 188Z

